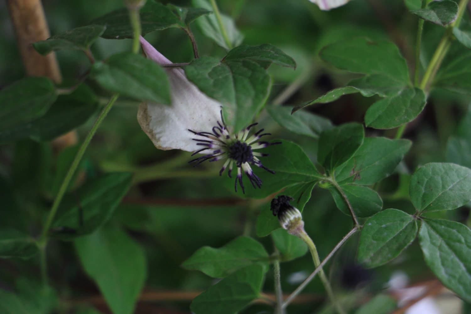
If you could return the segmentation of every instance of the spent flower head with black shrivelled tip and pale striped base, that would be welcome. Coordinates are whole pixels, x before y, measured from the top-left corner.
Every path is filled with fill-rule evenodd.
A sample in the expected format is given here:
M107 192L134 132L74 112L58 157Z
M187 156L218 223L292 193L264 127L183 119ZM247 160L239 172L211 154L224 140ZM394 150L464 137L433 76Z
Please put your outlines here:
M290 204L292 197L280 195L271 201L270 209L273 216L278 216L278 221L288 233L299 236L304 232L304 221L299 209Z

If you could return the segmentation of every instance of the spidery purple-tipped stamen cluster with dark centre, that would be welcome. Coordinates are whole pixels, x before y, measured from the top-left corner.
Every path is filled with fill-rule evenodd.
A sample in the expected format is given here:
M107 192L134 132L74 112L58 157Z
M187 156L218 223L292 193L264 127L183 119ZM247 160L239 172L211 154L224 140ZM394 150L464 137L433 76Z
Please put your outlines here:
M262 181L255 173L253 173L251 165L255 165L262 169L267 170L270 173L275 173L275 171L268 169L263 166L259 157L268 156L266 153L254 152L254 150L267 147L269 145L281 144L281 142L269 143L264 141L259 141L259 139L266 135L271 135L270 133L263 133L263 129L260 129L258 132L249 137L250 129L253 126L256 126L258 123L253 123L247 128L240 131L238 134L231 135L227 129L226 123L222 118L221 111L221 121L218 121L218 125L214 126L212 132L196 132L194 130L189 130L197 137L203 138L193 138L197 142L196 145L203 146L203 148L197 150L193 155L197 153L202 153L208 151L203 156L195 158L194 160L189 161L190 163L195 162L195 166L199 165L203 161L219 161L222 159L227 159L227 161L222 166L222 169L219 171L219 176L222 175L224 170L229 168L227 175L231 176L233 165L235 164L237 168L237 177L235 178L235 192L237 192L237 182L239 182L242 193L245 193L244 183L242 181L242 171L249 178L250 183L252 183L254 188L261 187ZM193 156L192 155L192 156Z

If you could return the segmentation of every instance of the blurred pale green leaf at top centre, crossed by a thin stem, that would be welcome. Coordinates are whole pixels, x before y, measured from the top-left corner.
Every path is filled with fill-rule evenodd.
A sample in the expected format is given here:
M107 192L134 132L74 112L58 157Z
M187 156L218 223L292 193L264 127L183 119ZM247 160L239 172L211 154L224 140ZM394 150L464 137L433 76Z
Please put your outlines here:
M206 0L192 0L191 3L195 8L203 8L212 11L211 4ZM225 14L221 14L221 19L232 47L239 46L242 40L244 40L244 36L237 30L232 18ZM219 46L227 50L232 48L227 46L226 40L222 35L221 28L219 27L218 19L214 14L199 18L196 20L196 24L206 37L214 40Z

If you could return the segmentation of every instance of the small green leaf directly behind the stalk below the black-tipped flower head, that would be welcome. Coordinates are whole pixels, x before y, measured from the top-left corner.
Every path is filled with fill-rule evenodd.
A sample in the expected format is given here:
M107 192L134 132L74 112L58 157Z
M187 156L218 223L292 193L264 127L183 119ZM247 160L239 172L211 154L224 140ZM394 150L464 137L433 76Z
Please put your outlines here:
M300 258L308 251L308 246L304 241L284 229L277 229L271 235L284 262Z

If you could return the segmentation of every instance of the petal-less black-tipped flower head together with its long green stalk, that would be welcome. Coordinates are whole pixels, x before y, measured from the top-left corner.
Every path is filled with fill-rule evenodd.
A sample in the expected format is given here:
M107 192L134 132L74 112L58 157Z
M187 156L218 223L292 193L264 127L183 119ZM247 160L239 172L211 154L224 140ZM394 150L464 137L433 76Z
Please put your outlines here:
M304 230L304 221L302 220L301 212L290 204L290 201L292 200L293 199L290 196L280 195L271 201L270 209L273 212L273 215L278 217L278 221L283 229L288 233L297 236L308 245L314 266L318 267L321 264L321 261L319 259L319 254L317 253L316 245ZM327 291L327 295L335 306L337 312L345 314L346 312L343 310L341 305L335 302L332 287L323 269L319 272L319 276L324 284L325 290Z

